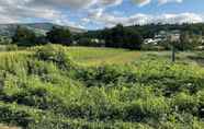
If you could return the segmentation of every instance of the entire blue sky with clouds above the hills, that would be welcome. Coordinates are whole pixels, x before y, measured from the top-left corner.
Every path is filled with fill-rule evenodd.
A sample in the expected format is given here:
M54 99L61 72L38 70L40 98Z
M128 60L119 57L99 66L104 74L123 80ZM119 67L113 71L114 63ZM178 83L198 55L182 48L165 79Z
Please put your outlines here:
M118 23L204 22L204 0L0 0L0 24L50 22L86 30Z

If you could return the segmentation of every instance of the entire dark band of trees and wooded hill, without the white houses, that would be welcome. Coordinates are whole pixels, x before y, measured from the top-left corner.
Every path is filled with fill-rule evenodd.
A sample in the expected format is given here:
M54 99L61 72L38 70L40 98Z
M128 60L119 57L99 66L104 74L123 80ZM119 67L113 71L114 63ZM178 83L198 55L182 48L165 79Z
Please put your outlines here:
M143 49L145 38L154 38L159 31L181 32L181 42L177 48L184 50L197 46L197 35L204 34L204 24L149 24L123 26L118 24L112 28L88 31L86 33L71 33L68 28L53 27L45 35L36 36L35 32L26 27L18 26L12 43L18 46L35 46L47 43L61 44L66 46L92 46L92 47L114 47L127 49ZM191 37L191 40L190 40ZM161 43L165 49L169 49L168 40ZM152 46L150 46L152 47Z

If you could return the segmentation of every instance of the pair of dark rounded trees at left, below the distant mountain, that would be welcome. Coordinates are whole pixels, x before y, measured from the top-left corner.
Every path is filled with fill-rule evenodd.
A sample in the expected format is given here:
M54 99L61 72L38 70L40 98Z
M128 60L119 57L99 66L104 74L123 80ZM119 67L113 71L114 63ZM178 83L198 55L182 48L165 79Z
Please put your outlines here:
M26 27L18 26L12 36L12 44L18 46L36 46L52 44L71 44L71 33L67 28L53 27L46 35L36 36L35 32Z

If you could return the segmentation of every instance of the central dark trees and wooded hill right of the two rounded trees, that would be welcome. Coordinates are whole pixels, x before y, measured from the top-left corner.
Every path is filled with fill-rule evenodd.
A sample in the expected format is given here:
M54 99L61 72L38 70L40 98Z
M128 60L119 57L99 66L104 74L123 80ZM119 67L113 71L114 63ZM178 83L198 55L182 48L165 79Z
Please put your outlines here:
M175 44L178 50L195 49L197 46L204 45L202 36L204 34L204 23L196 24L147 24L123 26L121 24L98 31L89 31L87 33L76 35L75 39L80 40L79 45L83 46L105 46L115 48L131 49L171 49L170 40L159 42L158 45L144 44L146 38L155 38L160 31L180 32L180 42ZM92 43L92 38L100 39L99 43ZM81 44L83 43L83 44Z

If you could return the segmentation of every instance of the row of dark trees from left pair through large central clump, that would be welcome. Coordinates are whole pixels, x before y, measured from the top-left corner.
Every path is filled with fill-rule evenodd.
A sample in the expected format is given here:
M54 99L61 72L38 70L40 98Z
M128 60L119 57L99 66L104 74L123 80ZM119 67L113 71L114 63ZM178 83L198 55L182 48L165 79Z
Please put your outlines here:
M95 32L94 32L95 33ZM129 48L139 49L143 43L143 38L138 32L126 28L123 25L117 25L113 28L105 28L99 33L100 38L90 37L88 33L72 34L68 28L53 27L46 35L36 36L35 33L29 28L18 26L14 35L12 36L12 43L19 46L35 46L44 45L47 43L79 45L79 46L95 46L98 43L101 46L102 43L93 42L92 39L104 40L104 47L115 48Z

